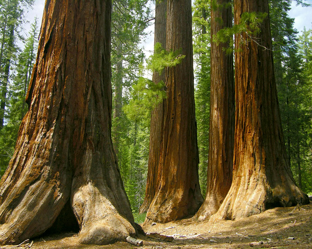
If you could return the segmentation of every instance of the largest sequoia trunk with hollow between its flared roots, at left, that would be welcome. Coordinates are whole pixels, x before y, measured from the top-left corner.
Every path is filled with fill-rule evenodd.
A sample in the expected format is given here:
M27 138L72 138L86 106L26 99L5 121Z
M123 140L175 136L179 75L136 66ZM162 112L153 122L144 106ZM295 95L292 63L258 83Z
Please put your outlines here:
M111 140L110 0L47 0L28 112L0 184L0 244L43 233L70 201L81 243L135 234Z

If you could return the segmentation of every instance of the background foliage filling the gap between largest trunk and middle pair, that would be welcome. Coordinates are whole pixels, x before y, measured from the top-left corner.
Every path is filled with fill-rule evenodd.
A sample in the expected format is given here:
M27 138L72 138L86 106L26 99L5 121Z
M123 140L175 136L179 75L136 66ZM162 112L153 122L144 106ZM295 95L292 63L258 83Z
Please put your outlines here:
M152 18L145 0L113 0L112 5L112 139L114 146L118 146L118 166L130 204L138 211L145 194L149 121L142 120L139 124L129 120L122 107L129 104L131 86L142 75L139 65L143 65L144 53L139 44ZM147 152L143 149L146 146Z

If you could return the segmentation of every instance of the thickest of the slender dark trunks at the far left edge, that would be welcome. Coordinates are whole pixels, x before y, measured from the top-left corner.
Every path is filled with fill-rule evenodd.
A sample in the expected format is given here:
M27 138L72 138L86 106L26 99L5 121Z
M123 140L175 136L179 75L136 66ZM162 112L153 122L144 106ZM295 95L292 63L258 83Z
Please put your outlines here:
M8 41L8 47L12 48L14 43L14 25L10 28L10 36ZM10 49L9 49L10 51ZM3 82L2 82L2 91L1 91L1 101L0 101L0 129L3 128L4 125L4 114L5 114L5 107L7 104L7 84L9 82L9 73L10 73L10 66L11 66L11 56L8 55L5 63L4 68L4 75L3 75Z

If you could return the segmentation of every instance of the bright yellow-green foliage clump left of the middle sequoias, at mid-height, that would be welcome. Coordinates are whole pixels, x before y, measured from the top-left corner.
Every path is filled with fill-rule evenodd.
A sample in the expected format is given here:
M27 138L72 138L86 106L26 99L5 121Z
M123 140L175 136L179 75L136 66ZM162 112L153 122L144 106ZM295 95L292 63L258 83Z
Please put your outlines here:
M152 109L166 98L164 82L155 84L147 78L140 77L132 87L131 100L129 105L124 106L124 112L130 120L149 120Z

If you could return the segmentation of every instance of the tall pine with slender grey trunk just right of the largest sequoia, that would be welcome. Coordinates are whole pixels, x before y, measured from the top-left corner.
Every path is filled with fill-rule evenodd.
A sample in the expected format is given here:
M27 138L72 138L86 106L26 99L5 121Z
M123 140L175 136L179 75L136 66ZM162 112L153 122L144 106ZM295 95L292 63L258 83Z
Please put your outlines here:
M138 79L138 65L143 64L144 53L139 47L145 28L149 25L150 9L146 1L112 1L112 85L114 88L112 139L117 158L121 154L120 139L127 127L122 111L125 104L123 89L129 88Z

